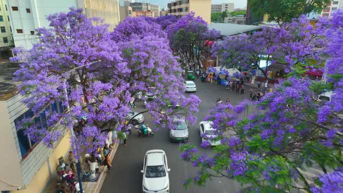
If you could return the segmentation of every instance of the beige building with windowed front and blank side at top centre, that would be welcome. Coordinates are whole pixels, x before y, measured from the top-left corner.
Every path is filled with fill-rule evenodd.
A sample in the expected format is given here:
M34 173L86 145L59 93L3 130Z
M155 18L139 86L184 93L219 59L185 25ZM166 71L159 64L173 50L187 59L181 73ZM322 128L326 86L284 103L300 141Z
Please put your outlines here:
M211 0L178 0L168 3L168 15L186 16L190 12L194 12L210 24Z

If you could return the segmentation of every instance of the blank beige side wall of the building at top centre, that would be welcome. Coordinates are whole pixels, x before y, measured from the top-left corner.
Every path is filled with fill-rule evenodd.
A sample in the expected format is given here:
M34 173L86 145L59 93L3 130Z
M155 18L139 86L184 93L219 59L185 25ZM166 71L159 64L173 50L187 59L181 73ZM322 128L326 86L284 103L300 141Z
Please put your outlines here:
M190 11L211 24L211 0L190 0Z

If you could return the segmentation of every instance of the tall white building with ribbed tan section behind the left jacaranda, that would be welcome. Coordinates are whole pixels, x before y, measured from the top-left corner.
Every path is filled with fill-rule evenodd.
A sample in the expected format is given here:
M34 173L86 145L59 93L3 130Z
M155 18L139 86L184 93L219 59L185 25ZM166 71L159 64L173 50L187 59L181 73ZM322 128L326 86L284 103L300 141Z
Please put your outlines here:
M118 0L11 0L7 1L8 12L16 47L31 49L37 43L35 29L49 28L46 17L69 8L82 8L87 17L99 17L109 24L109 30L119 23Z

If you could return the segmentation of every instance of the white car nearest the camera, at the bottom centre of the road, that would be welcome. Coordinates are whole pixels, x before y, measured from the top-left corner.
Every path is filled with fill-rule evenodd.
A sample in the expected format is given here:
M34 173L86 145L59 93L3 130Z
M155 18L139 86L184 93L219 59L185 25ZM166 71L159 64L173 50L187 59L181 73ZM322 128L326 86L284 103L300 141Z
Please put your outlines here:
M143 193L169 192L169 175L165 152L160 149L148 150L144 156L142 188Z

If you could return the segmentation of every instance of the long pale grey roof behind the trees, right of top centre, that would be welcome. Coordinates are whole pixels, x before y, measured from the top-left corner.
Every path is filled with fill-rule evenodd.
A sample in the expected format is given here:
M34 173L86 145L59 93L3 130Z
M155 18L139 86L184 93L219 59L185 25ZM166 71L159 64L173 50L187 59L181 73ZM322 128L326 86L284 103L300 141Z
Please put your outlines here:
M233 36L237 34L260 30L262 28L263 28L262 26L224 24L224 23L212 23L209 25L209 29L215 29L219 31L222 36Z

